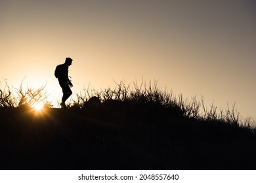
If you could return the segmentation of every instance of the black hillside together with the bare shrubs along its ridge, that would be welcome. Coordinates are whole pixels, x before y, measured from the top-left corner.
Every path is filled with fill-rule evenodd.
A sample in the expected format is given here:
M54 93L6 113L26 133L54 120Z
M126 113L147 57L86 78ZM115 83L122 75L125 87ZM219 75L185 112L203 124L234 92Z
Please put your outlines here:
M43 90L15 91L29 104ZM7 86L0 101L2 169L255 169L251 118L243 125L235 105L217 114L157 82L87 88L42 115L18 107Z

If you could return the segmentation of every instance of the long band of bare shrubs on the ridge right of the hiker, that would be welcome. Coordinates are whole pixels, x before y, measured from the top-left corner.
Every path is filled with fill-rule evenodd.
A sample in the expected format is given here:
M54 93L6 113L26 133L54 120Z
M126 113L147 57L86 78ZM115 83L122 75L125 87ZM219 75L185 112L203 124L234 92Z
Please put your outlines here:
M155 106L161 106L163 108L169 109L169 111L177 112L178 115L182 115L188 118L196 118L202 121L219 121L226 122L227 124L238 125L241 124L240 114L235 109L235 104L232 108L229 106L226 110L215 107L214 101L211 103L209 110L205 107L203 96L201 101L196 99L196 95L192 96L191 99L184 99L182 94L176 97L172 90L168 92L165 88L164 91L160 90L158 87L158 81L153 83L150 81L148 84L144 82L138 83L133 82L133 85L125 85L123 81L116 83L116 88L112 90L107 88L101 90L100 92L95 92L95 90L89 90L89 88L83 90L83 94L77 95L77 101L74 105L80 108L84 103L88 101L89 98L96 96L104 103L104 101L115 100L115 101L132 101L138 105L154 104ZM251 119L251 118L250 118ZM248 121L248 119L247 119ZM244 122L244 124L251 124L253 120L249 122Z

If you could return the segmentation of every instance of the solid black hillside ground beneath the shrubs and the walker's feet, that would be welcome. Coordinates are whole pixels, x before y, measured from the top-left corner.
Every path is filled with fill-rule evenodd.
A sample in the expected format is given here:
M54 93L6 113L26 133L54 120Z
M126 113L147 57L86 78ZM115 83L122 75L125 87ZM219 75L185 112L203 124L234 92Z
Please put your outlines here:
M0 108L1 169L256 169L249 127L157 107Z

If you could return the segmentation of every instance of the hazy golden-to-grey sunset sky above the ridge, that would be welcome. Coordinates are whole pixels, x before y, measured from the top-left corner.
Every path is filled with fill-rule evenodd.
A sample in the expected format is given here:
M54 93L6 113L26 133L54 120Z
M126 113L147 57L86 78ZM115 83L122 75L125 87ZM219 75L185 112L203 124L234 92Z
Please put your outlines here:
M70 57L73 97L143 78L256 119L253 0L1 0L0 33L1 86L25 78L60 101L54 69Z

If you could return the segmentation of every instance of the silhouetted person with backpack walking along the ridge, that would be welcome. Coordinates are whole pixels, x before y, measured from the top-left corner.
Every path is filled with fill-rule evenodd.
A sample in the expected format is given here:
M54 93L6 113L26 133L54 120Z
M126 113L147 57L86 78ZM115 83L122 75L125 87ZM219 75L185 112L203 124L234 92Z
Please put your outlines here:
M68 67L72 65L72 58L66 58L65 63L57 65L54 71L54 75L58 78L58 83L62 88L62 102L60 103L61 108L66 108L65 101L72 95L72 91L70 88L73 87L73 84L68 76Z

